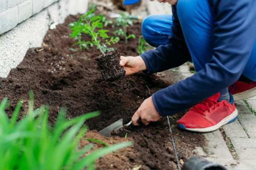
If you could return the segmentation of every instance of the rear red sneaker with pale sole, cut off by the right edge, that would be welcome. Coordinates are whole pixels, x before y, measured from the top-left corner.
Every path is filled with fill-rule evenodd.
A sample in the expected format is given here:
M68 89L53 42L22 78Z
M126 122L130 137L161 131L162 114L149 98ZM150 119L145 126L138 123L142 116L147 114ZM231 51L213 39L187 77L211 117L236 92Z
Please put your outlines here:
M234 101L248 99L256 96L256 82L235 82L228 88L229 92L233 95Z

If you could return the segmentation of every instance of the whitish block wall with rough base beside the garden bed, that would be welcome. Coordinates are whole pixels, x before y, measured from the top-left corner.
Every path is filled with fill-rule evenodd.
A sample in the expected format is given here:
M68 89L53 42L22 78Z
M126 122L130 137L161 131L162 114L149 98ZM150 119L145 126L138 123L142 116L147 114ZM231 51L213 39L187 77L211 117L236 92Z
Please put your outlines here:
M88 0L0 0L0 77L39 47L52 24L87 11Z

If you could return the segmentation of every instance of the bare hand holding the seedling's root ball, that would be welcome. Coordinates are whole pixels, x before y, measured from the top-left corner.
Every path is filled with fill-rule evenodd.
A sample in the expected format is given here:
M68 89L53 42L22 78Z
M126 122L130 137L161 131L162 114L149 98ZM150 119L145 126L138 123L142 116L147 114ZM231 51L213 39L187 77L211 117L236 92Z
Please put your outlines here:
M143 71L147 69L144 60L140 56L137 56L137 57L121 56L120 65L124 67L126 71L125 75L134 74L139 71Z

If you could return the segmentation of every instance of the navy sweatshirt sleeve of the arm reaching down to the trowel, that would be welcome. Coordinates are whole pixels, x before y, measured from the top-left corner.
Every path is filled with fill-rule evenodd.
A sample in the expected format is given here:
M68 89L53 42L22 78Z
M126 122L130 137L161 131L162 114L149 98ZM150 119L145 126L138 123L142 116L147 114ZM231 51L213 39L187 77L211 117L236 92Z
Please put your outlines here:
M161 116L195 105L236 82L256 41L256 0L211 0L214 49L205 68L153 94Z

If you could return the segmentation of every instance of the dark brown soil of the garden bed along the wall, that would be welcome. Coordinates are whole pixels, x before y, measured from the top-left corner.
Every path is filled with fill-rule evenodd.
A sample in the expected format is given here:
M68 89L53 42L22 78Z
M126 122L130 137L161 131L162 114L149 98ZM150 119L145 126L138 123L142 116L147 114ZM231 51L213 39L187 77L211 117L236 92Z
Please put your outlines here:
M80 51L72 47L68 24L78 20L78 16L67 17L64 24L55 30L49 30L42 47L32 48L23 62L12 69L6 79L0 79L0 99L8 97L9 116L20 98L24 99L22 113L26 111L28 93L35 94L35 107L49 105L49 121L55 122L60 107L67 108L67 117L73 118L83 113L101 111L101 115L87 121L90 129L101 130L111 123L123 118L127 123L144 99L154 92L165 88L170 83L163 82L160 77L147 76L142 73L124 77L114 82L100 79L101 74L95 58L99 55L96 48ZM116 28L111 28L113 32ZM134 23L129 34L140 36L140 23ZM90 37L83 36L86 40ZM129 40L126 44L121 39L114 47L121 55L137 56L138 39ZM75 48L75 50L70 50ZM170 81L172 82L172 81ZM21 118L22 114L19 118ZM197 133L188 133L176 129L176 120L182 116L172 116L172 127L177 144L179 159L186 160L193 155L193 149L204 143L204 137ZM108 144L129 140L132 147L105 156L97 161L97 169L132 169L141 165L142 170L176 169L176 161L165 118L150 123L148 127L132 128L128 138L113 136L106 138L96 132L89 132L93 138ZM81 145L86 141L81 142ZM95 147L102 147L95 145Z

